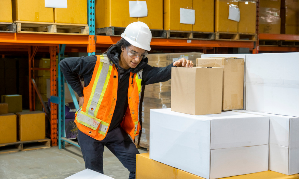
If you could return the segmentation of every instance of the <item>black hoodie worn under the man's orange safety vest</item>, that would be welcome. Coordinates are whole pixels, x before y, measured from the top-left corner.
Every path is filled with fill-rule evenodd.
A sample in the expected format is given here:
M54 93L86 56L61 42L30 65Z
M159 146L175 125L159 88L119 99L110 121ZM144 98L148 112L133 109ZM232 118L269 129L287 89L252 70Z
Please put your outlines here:
M173 67L173 64L170 64L167 67L152 67L147 64L148 59L145 58L136 68L125 70L118 65L120 53L121 51L118 52L117 47L115 46L111 47L107 52L108 58L118 69L117 100L108 131L115 129L120 125L128 107L127 94L130 72L137 73L143 69L141 85L147 85L169 80L171 78L171 67ZM65 80L80 97L83 96L83 86L81 85L79 75L82 75L84 78L84 86L86 87L89 85L96 61L97 57L92 55L87 57L65 58L59 64ZM122 74L121 78L120 74Z

